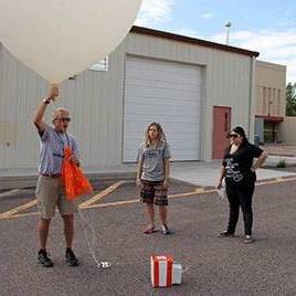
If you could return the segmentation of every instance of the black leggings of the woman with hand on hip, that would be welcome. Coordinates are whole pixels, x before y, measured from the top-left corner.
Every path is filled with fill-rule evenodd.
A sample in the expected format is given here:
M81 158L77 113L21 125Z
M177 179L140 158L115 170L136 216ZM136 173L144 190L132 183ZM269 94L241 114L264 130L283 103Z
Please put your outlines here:
M230 203L230 218L228 232L234 233L239 221L240 205L244 219L244 234L252 235L253 211L252 198L255 184L239 187L236 184L226 184L226 194Z

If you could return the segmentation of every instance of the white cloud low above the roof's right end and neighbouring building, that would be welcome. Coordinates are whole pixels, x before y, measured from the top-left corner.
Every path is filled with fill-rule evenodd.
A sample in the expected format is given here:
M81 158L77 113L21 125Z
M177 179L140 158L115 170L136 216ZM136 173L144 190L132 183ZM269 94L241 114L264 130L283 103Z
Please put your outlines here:
M224 43L225 33L211 38ZM287 82L296 82L296 29L287 31L236 31L230 33L230 45L260 52L260 60L287 66Z

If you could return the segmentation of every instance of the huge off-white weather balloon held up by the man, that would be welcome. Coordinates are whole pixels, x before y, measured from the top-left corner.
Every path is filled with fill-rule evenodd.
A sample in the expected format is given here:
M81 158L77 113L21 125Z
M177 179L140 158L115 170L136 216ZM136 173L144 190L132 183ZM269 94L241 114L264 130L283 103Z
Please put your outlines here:
M98 62L123 41L141 0L0 0L0 42L50 83Z

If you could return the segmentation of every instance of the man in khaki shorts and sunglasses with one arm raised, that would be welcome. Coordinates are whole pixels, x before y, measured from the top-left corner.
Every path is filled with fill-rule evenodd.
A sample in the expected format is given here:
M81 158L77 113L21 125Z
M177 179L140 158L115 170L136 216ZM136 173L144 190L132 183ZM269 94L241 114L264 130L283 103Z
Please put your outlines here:
M80 165L78 149L75 139L66 133L71 121L70 113L60 108L54 110L53 127L43 121L43 115L49 104L55 101L59 88L53 86L46 98L35 112L34 125L41 139L41 161L39 167L39 179L36 183L36 199L41 212L39 224L40 251L38 261L44 267L52 267L53 262L46 252L46 241L49 235L50 222L54 215L55 208L64 220L64 234L66 241L65 260L70 266L77 266L78 260L72 251L74 234L74 203L66 199L64 183L62 180L62 162L64 148L71 147L73 156L71 161Z

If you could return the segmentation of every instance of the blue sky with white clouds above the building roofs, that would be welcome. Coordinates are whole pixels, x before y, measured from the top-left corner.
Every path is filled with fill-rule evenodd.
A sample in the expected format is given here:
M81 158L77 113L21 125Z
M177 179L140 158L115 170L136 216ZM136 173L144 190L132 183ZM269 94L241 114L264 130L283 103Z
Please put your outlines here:
M296 83L296 0L144 0L136 25L260 52Z

